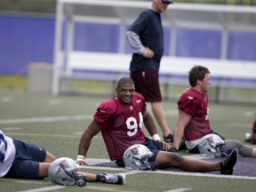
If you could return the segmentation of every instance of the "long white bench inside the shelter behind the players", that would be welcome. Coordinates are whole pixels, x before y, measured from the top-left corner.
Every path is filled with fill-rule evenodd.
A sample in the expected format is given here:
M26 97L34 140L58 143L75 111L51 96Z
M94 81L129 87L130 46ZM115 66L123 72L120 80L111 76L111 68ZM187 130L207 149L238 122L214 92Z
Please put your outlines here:
M69 52L68 55L68 70L60 75L62 80L83 79L115 85L121 76L129 76L131 54ZM172 86L188 85L188 71L195 65L210 69L212 86L216 88L216 101L223 99L223 90L228 87L256 89L254 62L164 57L159 74L160 83L164 84L165 98L171 97L169 90Z

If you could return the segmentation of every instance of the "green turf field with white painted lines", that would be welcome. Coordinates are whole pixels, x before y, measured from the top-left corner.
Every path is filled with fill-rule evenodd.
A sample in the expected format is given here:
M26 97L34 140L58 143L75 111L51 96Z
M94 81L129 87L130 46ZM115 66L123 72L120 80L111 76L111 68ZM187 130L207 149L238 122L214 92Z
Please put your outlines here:
M0 129L8 136L46 148L54 156L76 159L81 133L92 121L92 115L100 101L107 99L97 95L60 95L27 92L27 80L16 77L0 78ZM85 84L86 85L86 84ZM81 85L78 84L81 87ZM83 84L84 86L84 84ZM88 86L88 85L87 85ZM84 89L87 89L85 86ZM89 86L92 87L92 84ZM95 84L93 84L95 86ZM93 88L93 90L97 90ZM180 91L177 91L180 92ZM175 127L177 121L176 99L164 100L168 124ZM251 132L255 105L234 103L210 103L212 128L227 139L244 141L244 133ZM148 108L150 111L150 108ZM159 127L157 127L159 134ZM146 131L145 131L146 132ZM180 152L188 156L187 152ZM86 156L108 159L101 135L93 138ZM85 188L52 186L49 180L0 179L0 191L255 191L256 178L243 178L191 172L128 172L120 169L86 167L84 172L124 172L124 186L89 183Z

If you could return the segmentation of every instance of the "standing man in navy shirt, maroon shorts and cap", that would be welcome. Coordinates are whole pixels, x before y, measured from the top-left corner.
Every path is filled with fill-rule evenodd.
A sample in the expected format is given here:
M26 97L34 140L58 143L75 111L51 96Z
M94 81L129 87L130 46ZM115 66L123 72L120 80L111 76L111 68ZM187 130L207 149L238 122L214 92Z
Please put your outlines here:
M172 4L171 0L153 0L151 7L141 12L126 32L133 51L130 70L136 92L140 92L151 103L153 114L164 134L164 141L168 143L173 141L173 133L164 116L158 71L164 54L164 29L160 13L169 4Z

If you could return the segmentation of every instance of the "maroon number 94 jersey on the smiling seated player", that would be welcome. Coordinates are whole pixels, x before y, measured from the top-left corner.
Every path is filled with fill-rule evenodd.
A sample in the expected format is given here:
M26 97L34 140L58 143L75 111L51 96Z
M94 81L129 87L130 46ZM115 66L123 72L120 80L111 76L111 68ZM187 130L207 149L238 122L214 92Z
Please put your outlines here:
M111 161L122 159L125 149L133 144L146 142L141 129L145 111L145 100L137 92L134 93L131 105L114 97L102 102L97 108L93 117L102 127L101 134Z

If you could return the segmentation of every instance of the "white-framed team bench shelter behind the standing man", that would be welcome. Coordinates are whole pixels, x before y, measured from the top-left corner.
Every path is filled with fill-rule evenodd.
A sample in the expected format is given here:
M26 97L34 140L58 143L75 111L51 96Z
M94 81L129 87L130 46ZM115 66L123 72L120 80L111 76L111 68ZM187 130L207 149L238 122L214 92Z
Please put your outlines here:
M58 0L52 94L59 93L60 80L116 84L121 76L129 76L131 50L127 48L125 31L150 4L129 0ZM253 40L247 39L254 36L254 18L252 6L181 3L169 6L162 14L164 58L160 83L164 85L164 97L172 96L172 86L189 86L188 70L194 65L204 65L212 71L212 86L216 88L214 100L226 99L226 87L252 89L250 94L252 91L252 100L255 100L256 63L246 61L255 58ZM100 33L92 30L92 23L101 25ZM113 28L108 33L103 26ZM91 36L88 30L93 31ZM76 36L78 31L80 36ZM247 44L236 44L244 42L244 38L236 39L240 34L246 36ZM84 44L78 46L77 42ZM250 57L246 57L248 55ZM204 59L196 59L199 57ZM246 93L243 90L243 94Z

